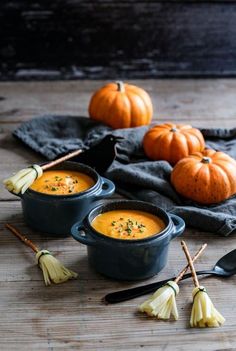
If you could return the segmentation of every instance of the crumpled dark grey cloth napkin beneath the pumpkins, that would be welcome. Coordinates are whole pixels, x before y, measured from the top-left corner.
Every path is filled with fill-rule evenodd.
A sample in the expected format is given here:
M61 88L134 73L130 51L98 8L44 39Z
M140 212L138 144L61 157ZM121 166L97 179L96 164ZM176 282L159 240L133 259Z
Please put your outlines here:
M171 165L150 161L142 149L148 126L116 129L86 117L42 116L23 123L13 135L33 150L52 160L78 148L89 148L105 135L122 136L117 158L105 176L113 180L117 191L130 199L154 203L182 217L186 225L227 236L236 229L236 196L212 206L183 199L170 184ZM227 152L236 159L236 128L202 129L207 147Z

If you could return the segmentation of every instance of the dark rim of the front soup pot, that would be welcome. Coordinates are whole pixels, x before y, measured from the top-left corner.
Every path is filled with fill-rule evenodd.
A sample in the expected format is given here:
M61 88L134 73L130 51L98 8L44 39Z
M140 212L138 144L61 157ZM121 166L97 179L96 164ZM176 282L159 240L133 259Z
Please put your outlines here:
M158 211L160 211L163 215L163 217L165 217L165 219L168 221L168 224L166 225L166 227L159 233L156 233L156 234L153 234L153 235L150 235L146 238L143 238L143 239L131 239L131 240L126 240L126 239L117 239L117 238L112 238L110 236L107 236L105 234L102 234L100 232L98 232L96 229L94 229L91 225L91 219L90 219L90 216L93 214L93 212L95 212L97 209L99 208L103 208L103 207L107 207L111 204L120 204L120 205L125 205L125 204L130 204L131 207L130 208L126 208L126 209L135 209L137 211L142 211L142 212L147 212L147 213L150 213L148 210L145 210L145 209L136 209L136 208L132 208L132 205L138 205L138 204L141 204L141 205L145 205L145 206L149 206L149 207L152 207L153 209L158 209ZM121 207L122 208L122 207ZM120 208L118 208L120 209ZM124 208L125 209L125 208ZM116 209L114 208L114 211ZM111 209L108 209L107 211L104 211L105 212L108 212L108 211L113 211ZM153 214L153 213L152 213ZM155 215L155 214L154 214ZM158 217L158 215L156 215L156 217ZM161 218L163 220L163 217ZM96 216L94 217L96 218ZM93 219L94 219L93 218ZM120 244L124 244L124 245L132 245L133 243L136 243L136 244L142 244L142 243L147 243L151 240L154 240L154 239L157 239L157 240L161 240L163 239L165 236L167 236L169 233L170 233L170 230L171 228L173 227L173 223L172 223L172 220L170 218L170 216L168 215L168 213L166 211L164 211L161 207L158 207L156 205L153 205L153 204L150 204L146 201L140 201L140 200L114 200L114 201L110 201L110 202L107 202L105 204L100 204L96 207L94 207L89 213L88 215L85 217L84 219L84 224L85 224L85 228L87 227L88 230L89 230L89 233L91 233L91 235L93 236L96 236L96 238L98 237L98 239L100 240L107 240L108 242L110 243L120 243Z

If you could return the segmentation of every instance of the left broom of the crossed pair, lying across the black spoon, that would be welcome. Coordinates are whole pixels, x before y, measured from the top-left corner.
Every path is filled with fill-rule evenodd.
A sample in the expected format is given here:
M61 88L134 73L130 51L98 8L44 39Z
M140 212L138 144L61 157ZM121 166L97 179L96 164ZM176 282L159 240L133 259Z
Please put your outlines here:
M193 257L193 262L201 255L207 244L202 245L198 252ZM187 265L175 278L174 281L168 281L164 286L159 288L148 300L139 306L140 312L145 312L149 316L157 317L158 319L169 319L171 315L174 319L179 318L178 309L176 306L175 297L179 293L178 283L183 275L187 272Z

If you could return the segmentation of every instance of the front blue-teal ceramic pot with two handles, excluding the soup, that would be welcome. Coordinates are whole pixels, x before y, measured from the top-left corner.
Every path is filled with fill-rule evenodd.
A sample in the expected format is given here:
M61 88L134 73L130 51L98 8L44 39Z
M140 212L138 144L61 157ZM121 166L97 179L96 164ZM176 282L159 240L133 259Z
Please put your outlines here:
M101 213L120 209L140 210L161 218L166 227L139 240L114 239L97 232L91 223ZM181 235L184 221L161 208L142 201L112 201L99 205L72 229L73 238L87 246L89 263L96 271L121 280L146 279L159 273L167 263L170 241Z

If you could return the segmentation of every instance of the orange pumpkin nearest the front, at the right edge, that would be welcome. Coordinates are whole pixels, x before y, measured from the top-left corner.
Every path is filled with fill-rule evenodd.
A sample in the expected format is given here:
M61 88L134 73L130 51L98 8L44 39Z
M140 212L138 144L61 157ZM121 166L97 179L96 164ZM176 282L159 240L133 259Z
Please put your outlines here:
M201 204L213 204L236 193L236 161L206 149L180 160L171 173L176 191Z

